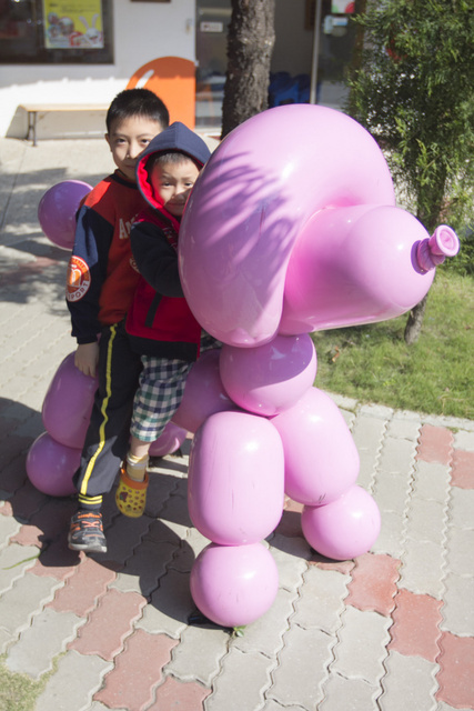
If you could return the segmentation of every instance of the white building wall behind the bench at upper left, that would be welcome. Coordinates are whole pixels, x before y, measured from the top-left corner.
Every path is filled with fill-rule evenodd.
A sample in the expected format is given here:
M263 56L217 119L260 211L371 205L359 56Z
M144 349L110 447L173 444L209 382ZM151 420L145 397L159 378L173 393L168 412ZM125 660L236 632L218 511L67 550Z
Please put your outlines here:
M22 102L110 103L142 64L157 57L195 59L194 0L113 0L113 64L0 66L0 136L24 138ZM39 138L53 138L61 117L44 116ZM103 117L68 114L69 134L103 134ZM63 120L62 120L63 123Z

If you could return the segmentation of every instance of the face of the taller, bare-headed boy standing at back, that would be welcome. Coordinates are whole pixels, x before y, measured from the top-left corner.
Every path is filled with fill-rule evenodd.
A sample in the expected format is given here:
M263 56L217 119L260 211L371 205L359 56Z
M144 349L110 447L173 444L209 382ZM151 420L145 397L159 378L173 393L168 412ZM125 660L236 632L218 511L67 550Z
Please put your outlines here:
M125 178L135 182L139 156L162 130L159 121L141 116L132 116L120 123L112 123L111 132L105 133L105 140L112 151L113 162Z

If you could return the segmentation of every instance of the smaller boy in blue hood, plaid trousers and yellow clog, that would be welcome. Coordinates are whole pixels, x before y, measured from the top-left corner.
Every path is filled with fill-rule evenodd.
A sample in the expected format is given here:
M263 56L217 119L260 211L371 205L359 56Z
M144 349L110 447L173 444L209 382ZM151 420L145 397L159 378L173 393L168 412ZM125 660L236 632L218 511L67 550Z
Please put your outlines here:
M142 276L127 317L132 347L143 370L133 403L130 450L115 501L125 515L143 513L151 442L181 402L200 349L218 342L201 331L184 299L178 272L178 234L188 197L210 157L204 141L177 122L157 136L137 166L147 210L131 230L131 247Z

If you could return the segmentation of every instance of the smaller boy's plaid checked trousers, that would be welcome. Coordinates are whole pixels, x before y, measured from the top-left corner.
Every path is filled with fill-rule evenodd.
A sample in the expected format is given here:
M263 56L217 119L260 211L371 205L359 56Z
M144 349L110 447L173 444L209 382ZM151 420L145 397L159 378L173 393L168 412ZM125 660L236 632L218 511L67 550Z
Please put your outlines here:
M203 333L201 353L219 346L215 339ZM154 442L180 407L194 363L153 356L142 356L142 362L130 433L142 442Z

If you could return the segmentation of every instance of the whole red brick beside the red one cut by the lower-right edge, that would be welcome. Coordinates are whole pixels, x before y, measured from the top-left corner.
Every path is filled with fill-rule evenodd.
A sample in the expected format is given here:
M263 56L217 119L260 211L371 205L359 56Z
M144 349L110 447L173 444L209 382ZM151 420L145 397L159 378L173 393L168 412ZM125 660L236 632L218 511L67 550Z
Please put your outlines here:
M392 613L393 625L390 629L393 649L407 657L423 657L434 662L440 653L438 640L442 620L442 601L431 595L421 595L400 590L395 597L395 610Z

